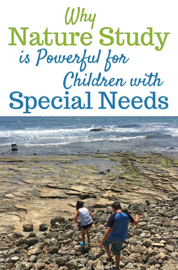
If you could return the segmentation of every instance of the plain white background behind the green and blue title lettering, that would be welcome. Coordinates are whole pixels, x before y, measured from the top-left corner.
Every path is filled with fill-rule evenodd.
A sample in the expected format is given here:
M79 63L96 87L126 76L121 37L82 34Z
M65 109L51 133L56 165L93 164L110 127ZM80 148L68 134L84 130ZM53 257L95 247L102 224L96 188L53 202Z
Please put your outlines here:
M0 116L177 116L177 1L4 1L1 6L1 105ZM64 18L68 7L75 8L75 16L77 14L77 7L85 8L87 18L89 14L96 13L93 30L91 29L91 22L80 22L80 16L75 25L71 23L65 24ZM71 12L69 11L69 15ZM81 15L81 12L80 12ZM68 17L69 19L69 17ZM15 35L16 46L9 46L11 43L11 30L9 27L15 27L21 37L23 37L23 30L20 27L28 27L26 30L26 46L22 46L20 41ZM69 32L90 32L93 39L92 44L84 46L80 42L80 36L75 36L75 43L77 46L57 46L55 44L55 35L48 35L48 42L53 39L51 46L31 46L29 45L30 33L38 32L40 34L40 42L44 40L45 29L48 27L48 32L59 33L59 43L63 42L63 35L61 32L67 32L67 41L70 43ZM103 27L110 27L114 30L113 34L109 34L108 30L105 32L114 37L114 44L110 46L103 46L99 43L102 38L99 31ZM118 46L116 43L116 35L114 33L120 27L120 32L130 32L130 42L134 43L135 35L133 32L138 32L140 46L127 45L127 35L120 35L120 40L125 39L123 46ZM160 43L157 35L153 34L154 46L144 46L140 41L143 32L149 32L147 27L153 28L154 32L162 32L161 38L163 40L163 32L170 32L167 36L165 45L161 51L156 51L155 47ZM147 36L147 35L146 35ZM147 39L145 36L145 42ZM35 37L35 35L34 35ZM87 41L87 40L85 40ZM108 43L108 39L104 39ZM87 49L88 55L97 55L101 49L101 56L98 64L87 64L87 68L80 72L80 64L68 64L64 61L62 64L55 64L54 61L50 64L46 62L46 58L35 66L38 58L38 49L46 48L48 55L75 55L76 53L82 57L84 49ZM108 55L108 50L111 49L111 55L120 55L123 53L127 58L130 58L126 64L116 63L111 64L108 72L104 72L104 66ZM23 57L29 54L30 62L20 63L19 57L23 52ZM23 59L23 58L22 58ZM63 87L64 76L69 72L79 72L79 78L85 78L84 74L87 73L89 77L90 72L93 73L92 79L97 78L98 73L101 72L101 78L123 78L127 81L122 87L120 86L72 86L69 91L69 106L73 103L71 98L80 96L82 104L87 103L87 95L85 92L91 92L91 107L93 109L63 109L65 102L61 109L54 109L50 105L48 109L41 109L38 106L38 99L41 96L47 96L50 101L54 96L64 97L66 89ZM153 72L155 75L158 72L158 78L161 86L130 86L131 78L145 78ZM74 79L68 82L74 82ZM87 81L87 80L86 80ZM31 111L31 114L23 114L25 111L25 98L21 98L24 102L24 107L21 109L12 109L9 104L12 102L9 98L11 92L18 91L23 96L35 96L37 99L37 107ZM118 92L116 94L115 109L111 109L109 104L104 102L106 109L98 109L101 106L101 94L99 91L105 91L112 102L111 91ZM131 99L134 96L140 96L143 101L150 92L156 92L156 106L158 107L158 98L166 96L168 98L169 107L165 110L146 109L143 103L141 109L134 109L131 106ZM118 99L121 96L127 96L130 99L130 107L128 109L121 109L118 106ZM16 98L18 96L16 95ZM65 99L64 99L65 100ZM19 103L14 103L18 106ZM43 103L43 105L47 105ZM56 104L57 105L57 104ZM136 104L138 106L140 104ZM87 106L87 104L86 104ZM125 104L123 104L125 106ZM164 106L164 105L163 105Z

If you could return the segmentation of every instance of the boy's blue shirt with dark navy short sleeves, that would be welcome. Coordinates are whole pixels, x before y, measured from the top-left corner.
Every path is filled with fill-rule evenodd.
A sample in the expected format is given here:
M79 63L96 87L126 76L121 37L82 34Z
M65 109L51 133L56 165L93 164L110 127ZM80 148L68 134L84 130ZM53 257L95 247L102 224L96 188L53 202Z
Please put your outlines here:
M113 229L109 238L114 241L126 240L129 221L134 222L134 218L127 212L117 212L110 215L107 227Z

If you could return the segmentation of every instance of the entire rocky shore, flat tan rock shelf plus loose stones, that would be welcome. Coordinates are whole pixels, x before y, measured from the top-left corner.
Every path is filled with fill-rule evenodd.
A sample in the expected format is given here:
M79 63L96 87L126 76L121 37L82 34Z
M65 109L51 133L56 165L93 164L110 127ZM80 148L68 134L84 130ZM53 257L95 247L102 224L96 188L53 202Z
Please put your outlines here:
M99 242L116 200L140 215L120 267L178 270L177 180L178 159L158 154L1 156L0 270L109 269ZM79 198L94 213L92 243L82 248L72 222Z

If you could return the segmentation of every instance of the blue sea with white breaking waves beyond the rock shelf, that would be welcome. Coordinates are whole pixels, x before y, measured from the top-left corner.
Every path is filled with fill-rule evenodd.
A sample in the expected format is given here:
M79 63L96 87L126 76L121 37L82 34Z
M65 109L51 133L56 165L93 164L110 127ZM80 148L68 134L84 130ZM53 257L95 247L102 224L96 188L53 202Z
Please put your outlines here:
M94 128L105 130L91 132ZM12 143L18 145L18 152L11 151ZM1 155L90 154L97 150L178 157L178 117L0 117Z

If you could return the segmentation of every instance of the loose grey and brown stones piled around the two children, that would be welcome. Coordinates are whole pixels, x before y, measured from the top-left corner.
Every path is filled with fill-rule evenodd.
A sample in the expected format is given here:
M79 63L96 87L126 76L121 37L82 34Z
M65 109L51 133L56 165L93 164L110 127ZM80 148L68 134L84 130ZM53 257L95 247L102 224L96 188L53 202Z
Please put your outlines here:
M106 262L104 249L99 248L112 209L87 207L94 214L91 243L80 246L81 232L76 228L73 216L54 216L51 227L40 224L38 232L34 232L33 224L24 224L24 232L0 234L0 269L115 269ZM139 214L140 222L138 226L128 226L120 268L177 270L178 193L170 193L156 203L148 200L133 202L123 210L132 216Z

